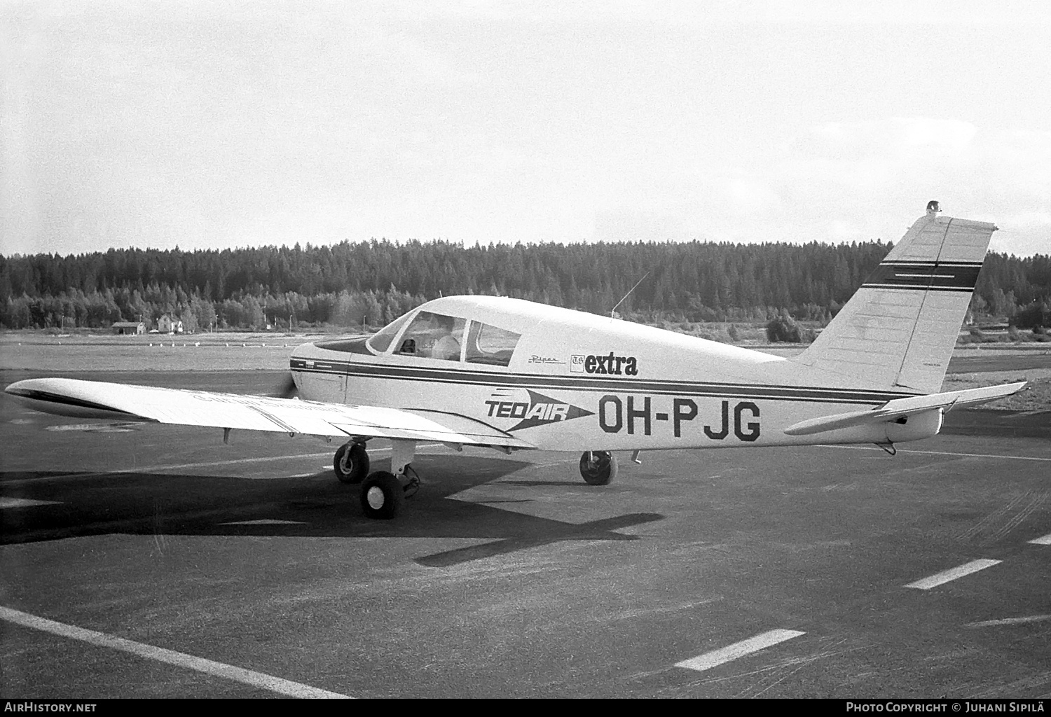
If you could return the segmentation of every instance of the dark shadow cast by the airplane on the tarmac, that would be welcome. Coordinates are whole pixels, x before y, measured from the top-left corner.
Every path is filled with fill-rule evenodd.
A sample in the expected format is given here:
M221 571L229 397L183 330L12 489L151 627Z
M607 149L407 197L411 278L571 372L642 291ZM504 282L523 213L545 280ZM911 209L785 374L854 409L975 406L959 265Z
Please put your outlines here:
M358 489L330 472L308 478L250 480L239 477L142 472L0 472L4 499L33 501L5 508L0 545L114 533L133 535L252 535L273 537L469 537L493 542L416 558L448 567L571 540L630 541L618 529L661 520L659 513L627 513L575 524L502 510L501 503L529 503L528 491L486 503L450 495L513 473L530 464L469 456L417 457L424 485L394 521L362 514ZM603 490L582 481L501 481L537 490Z

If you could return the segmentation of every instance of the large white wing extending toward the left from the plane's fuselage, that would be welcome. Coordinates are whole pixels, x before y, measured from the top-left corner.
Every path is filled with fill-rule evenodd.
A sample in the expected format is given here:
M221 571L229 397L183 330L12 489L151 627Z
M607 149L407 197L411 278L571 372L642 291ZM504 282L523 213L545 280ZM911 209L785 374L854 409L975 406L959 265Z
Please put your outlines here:
M452 413L344 405L206 391L35 378L4 389L46 414L311 436L350 436L534 448L483 421Z

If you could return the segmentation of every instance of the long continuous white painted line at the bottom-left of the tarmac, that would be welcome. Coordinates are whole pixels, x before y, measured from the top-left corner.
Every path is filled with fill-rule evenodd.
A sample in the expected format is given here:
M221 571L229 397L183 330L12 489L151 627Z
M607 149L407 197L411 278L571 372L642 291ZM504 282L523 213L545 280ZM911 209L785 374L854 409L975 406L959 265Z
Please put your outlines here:
M133 655L146 657L147 659L153 659L159 662L166 662L168 665L174 665L176 667L203 672L208 675L224 677L235 682L243 682L244 684L249 684L253 688L269 690L270 692L276 692L277 694L286 695L288 697L349 698L349 695L341 695L337 692L321 690L318 688L310 687L309 684L293 682L288 679L274 677L273 675L267 675L253 670L235 668L232 665L217 662L214 660L205 659L204 657L195 657L194 655L187 655L184 652L176 652L174 650L166 650L164 648L153 647L152 645L135 642L123 637L107 635L104 632L85 630L84 628L78 628L75 625L56 623L55 620L49 620L46 617L38 617L37 615L30 615L29 613L22 612L20 610L12 610L11 608L0 607L0 619L14 623L15 625L21 625L22 627L33 628L34 630L49 632L54 635L78 639L82 642L88 642L101 648L110 648L112 650L130 652Z

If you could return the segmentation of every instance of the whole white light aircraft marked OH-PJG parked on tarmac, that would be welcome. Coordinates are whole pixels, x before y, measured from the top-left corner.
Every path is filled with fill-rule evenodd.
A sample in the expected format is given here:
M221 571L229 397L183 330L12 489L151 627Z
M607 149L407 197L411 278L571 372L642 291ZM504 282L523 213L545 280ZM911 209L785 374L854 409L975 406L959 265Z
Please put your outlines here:
M593 485L613 451L895 443L929 438L953 406L1025 382L939 393L995 227L936 202L801 355L785 359L618 319L494 296L429 301L371 337L298 346L298 398L61 378L6 393L42 412L312 435L345 443L334 471L370 518L419 485L417 442L583 451ZM368 441L390 439L370 472Z

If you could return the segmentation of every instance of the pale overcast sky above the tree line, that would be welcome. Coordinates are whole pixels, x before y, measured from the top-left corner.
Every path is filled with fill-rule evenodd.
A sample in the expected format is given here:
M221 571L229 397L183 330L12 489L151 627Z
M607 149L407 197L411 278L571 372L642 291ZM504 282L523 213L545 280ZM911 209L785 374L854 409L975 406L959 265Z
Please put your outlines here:
M897 241L931 198L1051 253L1043 0L0 7L3 254Z

